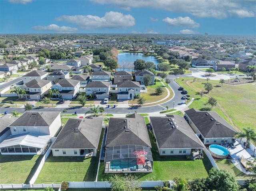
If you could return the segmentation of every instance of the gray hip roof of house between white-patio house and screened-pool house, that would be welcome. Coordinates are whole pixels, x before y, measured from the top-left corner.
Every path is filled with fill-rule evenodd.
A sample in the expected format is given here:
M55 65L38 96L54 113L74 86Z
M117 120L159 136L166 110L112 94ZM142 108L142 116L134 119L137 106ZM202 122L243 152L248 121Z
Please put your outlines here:
M103 118L69 118L51 149L98 148Z

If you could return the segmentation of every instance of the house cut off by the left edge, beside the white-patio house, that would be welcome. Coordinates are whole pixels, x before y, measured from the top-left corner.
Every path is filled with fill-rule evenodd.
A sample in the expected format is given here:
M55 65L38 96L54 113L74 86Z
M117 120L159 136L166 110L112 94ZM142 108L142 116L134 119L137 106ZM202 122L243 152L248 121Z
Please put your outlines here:
M8 136L11 135L11 130L9 128L9 125L14 122L17 117L11 117L12 114L6 114L3 115L1 119L1 125L0 125L0 143L3 142Z

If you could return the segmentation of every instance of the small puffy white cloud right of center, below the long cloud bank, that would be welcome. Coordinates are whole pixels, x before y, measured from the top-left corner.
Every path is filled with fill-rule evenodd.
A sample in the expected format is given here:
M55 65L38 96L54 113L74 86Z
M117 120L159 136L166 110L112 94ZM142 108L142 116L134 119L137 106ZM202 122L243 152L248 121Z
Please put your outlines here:
M181 26L185 28L198 28L200 27L199 23L196 23L194 20L189 17L177 17L177 18L169 18L166 17L163 19L164 22L168 23L170 26Z

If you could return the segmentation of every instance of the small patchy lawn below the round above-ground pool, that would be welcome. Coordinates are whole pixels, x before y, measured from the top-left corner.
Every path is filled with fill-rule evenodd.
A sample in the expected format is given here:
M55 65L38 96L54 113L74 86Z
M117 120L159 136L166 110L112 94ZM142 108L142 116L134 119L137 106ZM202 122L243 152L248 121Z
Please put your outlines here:
M230 159L215 160L215 162L220 169L225 169L231 172L236 179L251 179L252 177L256 177L256 175L251 176L241 172L237 167L235 167Z

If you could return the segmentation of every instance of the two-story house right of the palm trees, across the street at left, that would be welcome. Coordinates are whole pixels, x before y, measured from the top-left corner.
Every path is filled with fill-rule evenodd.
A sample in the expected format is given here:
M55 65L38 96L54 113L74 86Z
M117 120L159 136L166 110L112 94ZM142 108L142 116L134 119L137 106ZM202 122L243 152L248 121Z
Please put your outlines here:
M58 90L60 98L71 100L79 93L80 82L72 79L60 79L51 89Z

